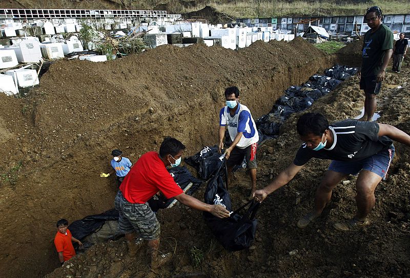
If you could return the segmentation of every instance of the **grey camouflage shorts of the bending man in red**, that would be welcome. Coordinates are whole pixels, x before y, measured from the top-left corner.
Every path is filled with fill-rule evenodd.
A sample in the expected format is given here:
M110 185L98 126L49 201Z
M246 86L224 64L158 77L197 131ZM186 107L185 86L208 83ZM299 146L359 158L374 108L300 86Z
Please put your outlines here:
M118 229L121 233L137 231L145 240L159 239L160 225L148 203L133 204L122 196L118 190L115 197L115 208L118 210Z

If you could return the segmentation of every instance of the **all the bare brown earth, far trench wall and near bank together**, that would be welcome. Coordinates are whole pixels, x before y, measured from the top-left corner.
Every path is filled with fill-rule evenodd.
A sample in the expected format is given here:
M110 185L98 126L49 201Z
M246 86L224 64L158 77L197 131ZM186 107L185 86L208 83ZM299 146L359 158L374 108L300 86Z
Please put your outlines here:
M238 85L241 102L257 118L270 111L283 89L306 81L336 59L301 39L258 41L240 51L163 46L104 63L61 60L27 97L1 95L1 275L40 277L58 268L53 246L56 220L64 217L71 222L113 206L115 181L99 178L100 172L109 170L111 149L121 148L135 161L147 151L157 151L169 135L185 143L186 155L192 155L217 140L224 88ZM408 65L400 75L388 72L379 96L379 121L407 133L408 73ZM398 85L403 88L395 89ZM363 101L354 77L310 110L336 121L357 116ZM275 176L292 161L301 143L295 132L297 117L286 121L278 139L259 148L259 187L269 183L271 168ZM403 277L410 273L408 154L408 147L396 144L389 178L376 190L372 225L362 231L341 233L332 227L354 215L354 177L336 188L314 225L305 230L296 227L297 219L312 206L315 187L329 164L319 160L311 161L290 185L263 202L250 250L224 251L198 211L183 206L162 210L158 213L162 249L175 255L161 275ZM248 182L245 173L236 174L232 189L236 206L248 195ZM195 197L203 198L203 188ZM195 261L194 247L202 260ZM298 251L291 256L292 250ZM48 277L147 273L144 251L129 258L123 240L96 245L70 262L69 268L58 268Z

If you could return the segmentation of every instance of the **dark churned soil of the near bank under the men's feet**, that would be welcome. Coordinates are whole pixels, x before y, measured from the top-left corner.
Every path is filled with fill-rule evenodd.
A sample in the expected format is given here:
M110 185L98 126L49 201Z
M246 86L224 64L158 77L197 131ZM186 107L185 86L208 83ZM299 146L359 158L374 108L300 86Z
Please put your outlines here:
M260 49L266 45L255 44ZM258 56L263 54L258 53ZM409 69L402 75L386 74L379 95L378 109L383 123L410 130ZM259 72L260 74L260 72ZM402 87L402 88L399 88ZM364 96L358 78L342 83L331 94L315 101L311 112L324 113L330 122L353 118L363 106ZM298 114L283 125L278 139L266 141L258 149L258 186L270 182L271 169L276 176L293 161L301 141L296 134ZM258 212L257 237L254 246L240 252L226 252L215 243L201 220L201 213L183 206L162 210L158 219L162 227L162 249L173 251L173 264L164 267L161 277L404 277L410 272L410 147L395 143L396 155L388 178L376 189L376 206L371 225L359 231L337 232L336 221L351 218L356 211L355 177L349 177L335 188L322 216L305 229L296 227L297 219L311 209L323 172L329 161L310 161L285 186L265 200ZM235 174L230 185L234 206L247 196L249 179L244 172ZM201 198L202 191L197 194ZM194 249L195 248L195 249ZM146 255L140 250L136 259L129 258L123 241L94 246L70 261L69 268L58 268L47 278L66 275L145 277ZM199 250L195 253L193 250ZM198 260L198 254L203 256ZM181 274L182 273L182 274ZM178 276L179 275L179 276ZM195 275L194 275L195 276Z

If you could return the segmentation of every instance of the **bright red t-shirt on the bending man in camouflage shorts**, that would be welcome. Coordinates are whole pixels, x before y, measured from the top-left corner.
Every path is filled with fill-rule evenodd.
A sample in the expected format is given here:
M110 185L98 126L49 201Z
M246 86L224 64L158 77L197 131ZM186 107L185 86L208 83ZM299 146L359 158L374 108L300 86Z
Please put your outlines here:
M146 203L158 191L167 199L183 193L156 152L148 152L138 159L119 190L128 202L134 204Z

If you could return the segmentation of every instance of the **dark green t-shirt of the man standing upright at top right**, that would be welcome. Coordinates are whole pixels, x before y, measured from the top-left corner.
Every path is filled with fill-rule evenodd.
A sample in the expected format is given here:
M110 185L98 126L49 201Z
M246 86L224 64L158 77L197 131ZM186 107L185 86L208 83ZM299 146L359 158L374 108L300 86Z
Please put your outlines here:
M381 24L376 32L372 33L372 29L366 32L362 48L361 75L363 77L377 75L387 49L393 49L392 30Z

